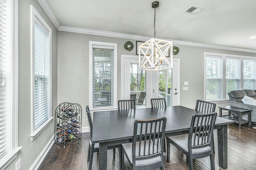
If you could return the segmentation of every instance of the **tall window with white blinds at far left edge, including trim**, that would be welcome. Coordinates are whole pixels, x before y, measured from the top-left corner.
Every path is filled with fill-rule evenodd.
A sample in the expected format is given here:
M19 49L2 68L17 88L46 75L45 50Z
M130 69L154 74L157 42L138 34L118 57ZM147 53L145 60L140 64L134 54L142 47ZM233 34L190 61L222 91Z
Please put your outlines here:
M0 1L0 169L18 147L18 2Z

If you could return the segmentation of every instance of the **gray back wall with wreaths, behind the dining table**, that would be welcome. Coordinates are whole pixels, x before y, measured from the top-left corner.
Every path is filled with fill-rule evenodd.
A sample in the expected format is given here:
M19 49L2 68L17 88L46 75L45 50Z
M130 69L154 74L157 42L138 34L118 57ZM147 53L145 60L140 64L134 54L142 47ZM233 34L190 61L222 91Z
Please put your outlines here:
M102 41L118 44L118 100L121 98L121 55L136 54L136 40L132 51L124 49L129 39L87 35L58 31L58 104L62 102L78 103L82 107L82 127L88 126L85 107L89 104L89 41ZM175 44L174 44L175 45ZM254 56L255 53L244 53L229 50L210 49L176 45L180 52L174 58L180 59L180 105L194 109L197 99L204 100L204 52L232 55ZM70 81L71 80L71 81ZM183 91L184 81L188 81L189 90ZM217 103L227 106L228 102Z

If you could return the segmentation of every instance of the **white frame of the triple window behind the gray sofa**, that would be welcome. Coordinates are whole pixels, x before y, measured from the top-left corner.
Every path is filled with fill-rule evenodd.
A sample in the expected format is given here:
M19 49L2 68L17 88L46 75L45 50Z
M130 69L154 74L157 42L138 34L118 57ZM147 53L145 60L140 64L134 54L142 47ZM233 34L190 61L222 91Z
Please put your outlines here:
M223 73L223 94L221 100L206 100L206 57L208 56L218 56L222 58L222 73ZM240 59L240 88L244 89L244 60L253 60L256 61L256 57L250 56L241 56L241 55L229 55L229 54L220 54L220 53L204 53L204 100L208 102L227 102L229 98L226 98L226 59ZM239 89L239 90L241 90Z

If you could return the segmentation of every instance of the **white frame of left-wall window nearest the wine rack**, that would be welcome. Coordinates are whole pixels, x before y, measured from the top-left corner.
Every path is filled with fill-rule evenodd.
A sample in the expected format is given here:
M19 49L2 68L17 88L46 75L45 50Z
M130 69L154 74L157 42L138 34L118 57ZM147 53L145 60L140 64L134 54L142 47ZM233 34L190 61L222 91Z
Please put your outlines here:
M36 9L30 5L30 12L31 12L31 18L30 18L30 30L31 30L31 141L34 141L34 139L51 123L52 119L52 29L49 27L49 25L44 21L42 16L36 11ZM34 113L34 104L35 104L35 98L34 98L34 21L39 21L42 29L45 31L48 31L50 42L49 42L49 113L48 113L48 119L42 123L37 129L35 129L35 113Z

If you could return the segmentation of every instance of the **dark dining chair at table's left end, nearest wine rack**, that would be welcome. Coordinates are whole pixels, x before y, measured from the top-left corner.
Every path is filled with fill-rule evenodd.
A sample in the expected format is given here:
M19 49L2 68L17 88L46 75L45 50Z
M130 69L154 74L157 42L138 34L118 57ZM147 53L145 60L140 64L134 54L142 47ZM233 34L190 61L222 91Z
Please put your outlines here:
M92 160L93 160L93 153L94 152L99 152L99 144L92 143L92 117L90 114L90 110L89 107L86 106L86 113L87 113L87 117L88 117L88 122L89 122L89 127L90 127L90 141L89 141L89 149L88 149L88 157L87 157L87 162L89 162L89 170L92 170ZM119 149L119 156L121 156L121 145L114 145L114 146L109 146L108 149L115 149L118 148ZM113 150L114 152L115 150ZM115 153L114 153L115 154ZM121 167L121 163L120 162L120 167Z

